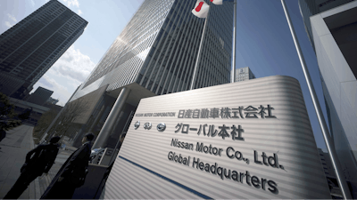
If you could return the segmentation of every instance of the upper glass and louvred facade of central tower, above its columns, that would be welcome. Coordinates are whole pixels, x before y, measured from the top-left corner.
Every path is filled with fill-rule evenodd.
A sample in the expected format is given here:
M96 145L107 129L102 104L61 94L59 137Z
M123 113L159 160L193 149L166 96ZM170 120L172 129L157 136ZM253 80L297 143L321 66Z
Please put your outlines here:
M195 88L229 83L233 3L211 5ZM192 0L146 0L83 84L83 94L132 82L156 94L188 90L204 23L191 13L194 6Z

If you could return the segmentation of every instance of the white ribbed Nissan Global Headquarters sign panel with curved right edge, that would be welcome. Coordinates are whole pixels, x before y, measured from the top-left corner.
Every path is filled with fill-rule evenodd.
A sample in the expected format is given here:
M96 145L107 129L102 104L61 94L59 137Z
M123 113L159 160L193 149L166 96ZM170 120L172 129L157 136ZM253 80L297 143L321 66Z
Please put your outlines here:
M331 199L300 84L270 76L140 101L102 199Z

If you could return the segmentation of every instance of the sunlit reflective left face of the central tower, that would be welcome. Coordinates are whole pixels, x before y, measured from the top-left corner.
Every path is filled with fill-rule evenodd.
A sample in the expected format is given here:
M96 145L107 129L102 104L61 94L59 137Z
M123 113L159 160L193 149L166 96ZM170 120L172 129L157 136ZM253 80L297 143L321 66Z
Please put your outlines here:
M110 50L104 55L85 86L145 51L153 43L154 33L159 28L158 22L163 20L163 14L153 11L155 8L162 9L162 7L161 1L142 4L127 27L112 44Z

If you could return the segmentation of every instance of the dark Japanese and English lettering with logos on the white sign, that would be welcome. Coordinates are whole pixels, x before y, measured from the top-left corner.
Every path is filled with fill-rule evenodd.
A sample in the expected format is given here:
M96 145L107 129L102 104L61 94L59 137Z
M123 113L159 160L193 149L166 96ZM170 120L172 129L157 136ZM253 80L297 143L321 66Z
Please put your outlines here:
M201 109L180 109L178 118L232 118L232 119L244 119L244 118L276 118L276 116L272 116L272 108L270 105L266 107L260 105L258 108L254 108L253 106L237 107L237 108L201 108ZM137 113L136 116L176 116L176 112L163 112L163 113ZM135 128L139 128L140 122L137 121ZM151 129L151 123L145 123L143 128L146 130ZM160 123L157 124L157 130L159 132L163 132L166 128L166 124ZM200 124L199 127L190 127L190 124L179 123L175 126L176 131L174 133L182 133L182 134L197 134L202 137L219 137L222 140L236 140L245 141L243 137L244 129L241 125L236 124ZM191 151L201 152L203 154L209 154L212 156L228 156L230 159L235 159L237 162L245 162L246 164L251 164L250 160L253 161L254 164L264 164L267 167L280 168L284 170L284 166L278 163L278 155L273 153L271 156L266 154L265 152L258 152L253 150L252 155L253 159L245 157L242 152L239 150L228 147L228 148L217 148L213 147L212 144L204 144L203 142L197 141L196 143L186 142L184 140L178 140L172 138L170 142L171 147L175 148L183 148ZM203 163L200 161L199 157L191 157L184 156L176 153L174 150L170 151L168 154L168 159L172 162L184 165L190 165L198 170L203 172L209 172L212 174L216 174L220 177L220 179L228 179L235 180L241 183L245 183L249 186L255 188L262 188L263 190L268 189L271 193L278 192L278 185L274 180L267 180L264 178L260 178L254 176L248 171L238 172L234 169L228 169L221 167L219 164L209 164Z

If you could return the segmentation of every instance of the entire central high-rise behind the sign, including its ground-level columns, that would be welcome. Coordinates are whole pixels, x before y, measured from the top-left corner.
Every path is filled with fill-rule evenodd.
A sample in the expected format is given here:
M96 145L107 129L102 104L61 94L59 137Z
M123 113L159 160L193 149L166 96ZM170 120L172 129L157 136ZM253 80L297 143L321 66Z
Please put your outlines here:
M189 90L205 20L192 14L195 3L145 0L70 100L83 98L90 105L87 116L76 121L83 125L82 132L98 133L103 124L102 131L106 130L105 124L116 113L117 121L111 123L121 128L113 127L112 132L120 134L126 123L123 119L137 108L141 98ZM230 79L233 2L208 4L211 11L195 89L227 84Z

